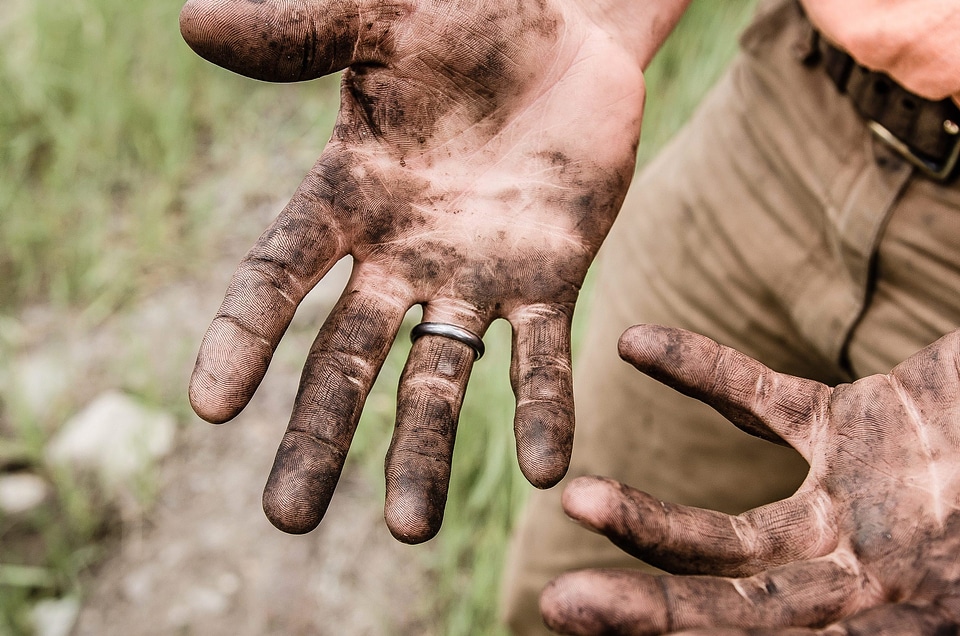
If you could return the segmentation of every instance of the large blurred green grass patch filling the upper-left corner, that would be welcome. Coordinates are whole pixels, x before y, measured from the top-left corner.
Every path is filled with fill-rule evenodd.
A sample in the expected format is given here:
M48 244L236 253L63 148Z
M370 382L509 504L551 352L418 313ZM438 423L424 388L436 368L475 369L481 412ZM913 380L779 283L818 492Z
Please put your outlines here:
M0 6L0 311L52 302L105 313L145 284L200 271L195 255L218 226L188 193L212 141L263 135L258 123L275 121L264 113L284 99L330 113L315 87L209 81L211 66L180 39L179 8Z

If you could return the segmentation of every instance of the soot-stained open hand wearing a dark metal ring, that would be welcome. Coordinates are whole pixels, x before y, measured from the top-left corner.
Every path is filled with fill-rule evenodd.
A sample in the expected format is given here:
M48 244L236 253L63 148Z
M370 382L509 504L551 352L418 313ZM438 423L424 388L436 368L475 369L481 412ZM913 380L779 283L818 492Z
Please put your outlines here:
M190 385L211 422L243 409L297 305L346 255L353 273L310 351L264 492L288 532L320 522L404 314L483 335L513 327L520 466L564 474L570 322L632 176L645 62L571 1L190 0L181 31L244 75L346 69L320 159L241 262ZM428 335L400 381L386 521L439 529L474 350Z

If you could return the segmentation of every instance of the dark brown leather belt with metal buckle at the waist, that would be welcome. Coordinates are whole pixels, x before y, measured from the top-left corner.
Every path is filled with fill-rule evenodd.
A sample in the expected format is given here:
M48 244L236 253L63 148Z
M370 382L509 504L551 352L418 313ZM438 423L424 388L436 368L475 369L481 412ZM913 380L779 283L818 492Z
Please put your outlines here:
M927 177L945 182L957 176L960 108L952 99L935 102L911 93L889 75L857 64L812 28L811 34L804 63L824 69L877 137Z

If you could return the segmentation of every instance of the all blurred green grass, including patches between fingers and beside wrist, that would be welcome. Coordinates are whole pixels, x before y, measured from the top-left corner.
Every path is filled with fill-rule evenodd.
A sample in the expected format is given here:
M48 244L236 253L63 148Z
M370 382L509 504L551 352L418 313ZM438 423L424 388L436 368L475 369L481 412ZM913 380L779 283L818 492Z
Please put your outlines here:
M641 162L719 75L752 4L693 4L647 73ZM0 4L0 359L13 359L5 325L31 305L74 308L96 321L164 282L199 276L236 222L216 211L211 167L229 171L238 154L271 148L309 155L329 134L330 81L272 86L216 71L180 40L179 7L170 0ZM580 329L588 301L585 291ZM452 636L501 632L501 562L531 488L516 466L509 329L494 325L486 340L489 353L464 404L444 527L435 549L424 551L438 581L426 611ZM149 360L127 357L138 366L132 376L149 377ZM355 442L354 461L378 475L404 357L398 345ZM41 471L51 424L19 408L5 371L0 469ZM142 382L148 391L149 380ZM157 390L155 398L168 394ZM107 514L82 488L49 478L57 495L47 507L27 520L0 520L4 546L14 535L33 537L16 544L19 553L0 551L0 633L29 633L30 604L75 593L78 573L98 557Z

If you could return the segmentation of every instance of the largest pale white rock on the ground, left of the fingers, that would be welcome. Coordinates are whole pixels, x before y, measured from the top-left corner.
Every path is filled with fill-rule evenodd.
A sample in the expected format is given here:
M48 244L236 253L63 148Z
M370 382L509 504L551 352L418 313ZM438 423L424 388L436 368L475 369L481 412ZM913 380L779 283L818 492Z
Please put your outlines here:
M64 424L46 457L55 466L92 472L115 491L170 452L175 428L169 413L108 391Z

